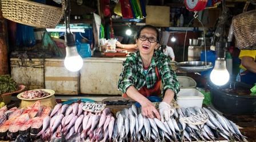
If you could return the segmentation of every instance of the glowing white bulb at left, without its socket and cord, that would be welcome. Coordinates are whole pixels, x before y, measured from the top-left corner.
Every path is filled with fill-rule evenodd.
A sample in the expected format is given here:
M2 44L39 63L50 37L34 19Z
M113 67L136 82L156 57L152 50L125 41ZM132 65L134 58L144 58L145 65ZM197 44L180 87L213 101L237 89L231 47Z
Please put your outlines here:
M67 70L77 72L83 66L83 59L77 52L77 47L66 47L66 57L64 65Z

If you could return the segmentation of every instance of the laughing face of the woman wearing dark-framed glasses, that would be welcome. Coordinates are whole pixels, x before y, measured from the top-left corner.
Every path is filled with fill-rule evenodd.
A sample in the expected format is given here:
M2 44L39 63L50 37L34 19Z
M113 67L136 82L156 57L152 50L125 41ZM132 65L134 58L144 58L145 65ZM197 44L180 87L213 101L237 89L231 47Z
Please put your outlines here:
M155 32L155 30L151 28L144 28L141 31L141 35L139 35L139 39L137 39L136 42L139 48L139 52L142 55L153 55L154 49L158 48L157 32Z

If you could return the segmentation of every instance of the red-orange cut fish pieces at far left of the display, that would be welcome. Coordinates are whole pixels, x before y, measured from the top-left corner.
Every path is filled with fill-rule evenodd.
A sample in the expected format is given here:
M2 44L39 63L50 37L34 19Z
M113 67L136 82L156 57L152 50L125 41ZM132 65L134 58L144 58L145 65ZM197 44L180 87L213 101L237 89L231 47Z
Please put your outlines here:
M42 127L43 119L49 116L50 112L51 107L41 106L40 101L27 108L0 108L0 140L15 140L18 135L25 133L35 135Z

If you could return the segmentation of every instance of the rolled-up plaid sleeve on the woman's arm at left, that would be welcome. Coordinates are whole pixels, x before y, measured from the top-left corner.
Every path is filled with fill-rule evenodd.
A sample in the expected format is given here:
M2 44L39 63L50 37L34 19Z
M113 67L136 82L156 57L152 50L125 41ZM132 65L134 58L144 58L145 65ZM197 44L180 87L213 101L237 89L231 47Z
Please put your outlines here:
M134 73L133 65L129 60L123 62L123 69L119 76L118 90L126 93L127 88L131 85L134 86L136 76Z

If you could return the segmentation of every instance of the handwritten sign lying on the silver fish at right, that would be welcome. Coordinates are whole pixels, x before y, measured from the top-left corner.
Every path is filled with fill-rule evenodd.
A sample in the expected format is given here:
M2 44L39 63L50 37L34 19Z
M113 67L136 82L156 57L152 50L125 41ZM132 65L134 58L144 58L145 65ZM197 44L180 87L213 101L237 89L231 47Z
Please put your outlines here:
M199 115L194 115L187 118L180 118L179 120L187 124L199 125L199 124L206 123L208 118L205 114L199 114Z

